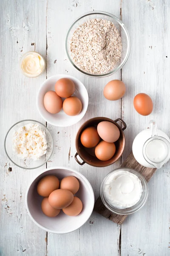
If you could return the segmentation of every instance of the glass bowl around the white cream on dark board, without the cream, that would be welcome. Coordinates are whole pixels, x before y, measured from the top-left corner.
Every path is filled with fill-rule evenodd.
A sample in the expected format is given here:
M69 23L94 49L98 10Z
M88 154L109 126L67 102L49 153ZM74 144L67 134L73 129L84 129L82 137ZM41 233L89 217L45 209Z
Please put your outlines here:
M139 180L141 181L142 184L142 195L141 198L139 199L139 201L128 208L117 208L117 207L113 207L113 205L111 205L107 199L105 198L105 193L104 193L104 188L105 188L105 183L107 182L108 178L113 175L113 173L115 172L119 172L119 171L127 171L127 172L131 172L133 174L135 174ZM122 167L122 168L117 168L115 170L113 170L112 172L110 172L105 179L102 182L101 188L100 188L100 195L102 198L102 202L105 205L105 207L107 207L111 212L119 214L119 215L128 215L128 214L132 214L134 212L137 212L139 209L141 209L144 204L147 201L147 197L148 197L148 186L147 186L147 181L145 180L145 178L137 171L131 169L131 168L126 168L126 167Z

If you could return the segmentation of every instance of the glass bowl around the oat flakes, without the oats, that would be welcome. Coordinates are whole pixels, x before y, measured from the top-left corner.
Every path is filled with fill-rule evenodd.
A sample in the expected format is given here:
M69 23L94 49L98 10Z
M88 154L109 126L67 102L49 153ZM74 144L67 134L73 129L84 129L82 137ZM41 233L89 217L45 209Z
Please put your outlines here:
M81 70L77 64L74 63L73 58L71 56L71 50L70 50L70 42L71 38L74 34L74 31L83 23L87 22L88 20L91 19L105 19L111 21L115 26L116 29L118 29L119 34L121 36L121 41L122 41L122 55L117 62L116 67L109 71L108 73L103 73L103 74L92 74L85 72L84 70ZM119 20L116 16L108 13L108 12L88 12L77 18L77 20L72 23L71 27L68 30L67 36L66 36L66 41L65 41L65 48L66 48L66 53L68 56L68 59L70 60L71 64L80 72L82 72L85 75L92 76L92 77L104 77L104 76L109 76L118 70L120 70L126 63L129 53L130 53L130 38L129 34L127 32L127 29L125 25L122 23L121 20Z

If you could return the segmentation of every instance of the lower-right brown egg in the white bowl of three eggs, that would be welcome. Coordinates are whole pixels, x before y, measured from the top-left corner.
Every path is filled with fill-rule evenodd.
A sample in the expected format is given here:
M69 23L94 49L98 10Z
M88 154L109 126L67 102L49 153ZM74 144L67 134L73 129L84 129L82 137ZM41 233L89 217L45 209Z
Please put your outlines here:
M82 111L82 102L72 96L64 100L62 108L68 116L76 116Z

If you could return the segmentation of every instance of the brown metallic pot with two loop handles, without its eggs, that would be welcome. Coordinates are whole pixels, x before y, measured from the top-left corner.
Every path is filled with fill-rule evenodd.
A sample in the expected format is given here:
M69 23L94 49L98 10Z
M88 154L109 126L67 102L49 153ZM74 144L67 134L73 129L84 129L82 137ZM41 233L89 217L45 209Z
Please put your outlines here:
M82 131L85 130L85 128L90 127L90 126L97 127L99 122L102 122L102 121L112 122L113 124L115 124L119 128L119 131L120 131L119 140L117 140L115 142L116 153L108 161L99 160L94 154L94 149L95 148L85 148L82 145L81 141L80 141L80 136L82 134ZM123 128L121 128L120 125L117 124L118 121L120 121L122 123ZM126 129L126 127L127 126L126 126L125 122L120 118L113 121L112 119L107 118L107 117L94 117L94 118L91 118L88 121L86 121L79 128L79 131L77 132L77 135L76 135L76 150L77 150L77 152L76 152L74 158L77 161L77 163L79 163L79 165L83 165L85 163L88 163L89 165L95 166L95 167L105 167L105 166L110 166L111 164L115 163L119 159L119 157L122 156L122 153L123 153L124 148L125 148L125 135L124 135L123 131ZM77 159L78 155L82 159L82 162L80 162Z

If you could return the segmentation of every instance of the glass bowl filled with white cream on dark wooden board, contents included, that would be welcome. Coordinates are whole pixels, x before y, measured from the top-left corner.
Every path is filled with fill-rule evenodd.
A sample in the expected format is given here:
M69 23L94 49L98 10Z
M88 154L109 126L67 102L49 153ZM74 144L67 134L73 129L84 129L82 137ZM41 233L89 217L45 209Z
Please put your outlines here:
M119 215L132 214L147 201L147 181L133 169L117 168L103 180L100 195L103 204L111 212Z

